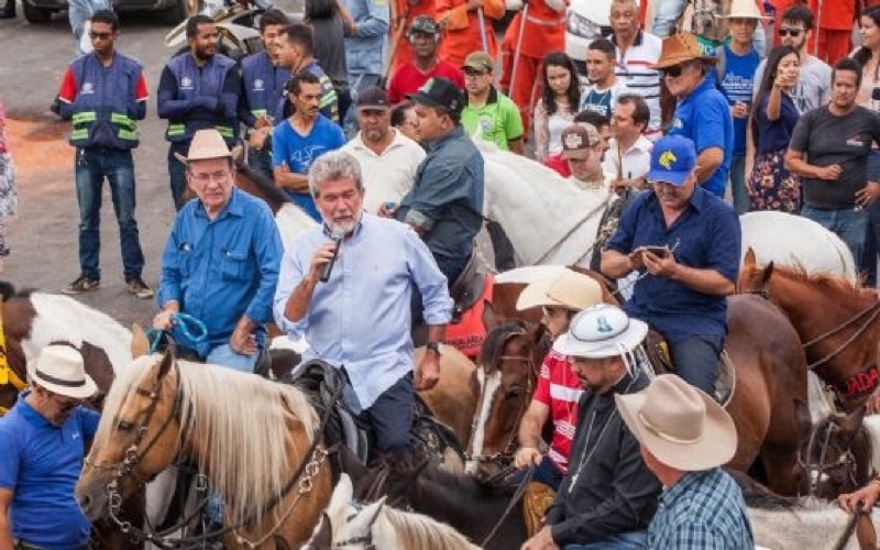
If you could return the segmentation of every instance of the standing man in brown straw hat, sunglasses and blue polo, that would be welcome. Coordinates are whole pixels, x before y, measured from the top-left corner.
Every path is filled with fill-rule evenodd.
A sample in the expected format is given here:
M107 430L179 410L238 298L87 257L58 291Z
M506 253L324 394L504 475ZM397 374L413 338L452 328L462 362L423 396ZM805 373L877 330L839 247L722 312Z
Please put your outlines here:
M708 77L718 59L702 54L696 36L676 33L663 38L663 50L653 68L660 70L669 92L675 97L675 113L669 135L683 135L696 145L696 182L724 198L734 146L734 121L724 95Z

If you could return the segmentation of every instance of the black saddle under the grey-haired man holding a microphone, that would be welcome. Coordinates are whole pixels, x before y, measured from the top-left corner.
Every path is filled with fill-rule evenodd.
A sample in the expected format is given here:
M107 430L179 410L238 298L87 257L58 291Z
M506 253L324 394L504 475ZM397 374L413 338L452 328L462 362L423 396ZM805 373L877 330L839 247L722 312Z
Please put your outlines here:
M346 381L341 370L324 361L307 361L299 364L280 382L293 384L302 391L311 400L318 416L323 415L328 408L331 409L323 431L328 447L344 444L363 464L370 461L371 451L375 447L373 427L345 405L342 388ZM415 449L424 455L439 455L446 448L451 448L462 461L464 460L464 450L455 433L433 417L418 395L416 395L410 435Z

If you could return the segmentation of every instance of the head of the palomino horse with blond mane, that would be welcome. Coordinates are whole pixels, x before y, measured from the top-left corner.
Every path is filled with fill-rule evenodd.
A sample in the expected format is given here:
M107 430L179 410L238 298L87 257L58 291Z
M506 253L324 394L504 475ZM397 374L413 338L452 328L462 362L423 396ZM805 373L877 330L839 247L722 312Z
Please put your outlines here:
M114 514L121 501L177 458L178 381L172 352L141 358L117 378L76 487L89 518Z

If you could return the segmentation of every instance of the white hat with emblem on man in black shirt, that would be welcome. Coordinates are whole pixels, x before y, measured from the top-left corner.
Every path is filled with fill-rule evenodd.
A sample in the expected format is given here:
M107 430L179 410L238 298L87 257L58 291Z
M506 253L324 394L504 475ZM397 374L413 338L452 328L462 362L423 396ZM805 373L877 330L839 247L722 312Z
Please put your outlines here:
M647 334L645 322L629 318L617 306L600 304L574 316L553 350L570 358L614 358L638 348Z

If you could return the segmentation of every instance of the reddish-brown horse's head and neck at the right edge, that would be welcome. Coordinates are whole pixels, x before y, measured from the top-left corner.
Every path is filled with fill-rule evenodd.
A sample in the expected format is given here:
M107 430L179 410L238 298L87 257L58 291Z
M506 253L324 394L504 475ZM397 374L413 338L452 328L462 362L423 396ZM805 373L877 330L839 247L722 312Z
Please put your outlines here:
M832 386L851 413L878 387L880 300L875 290L829 275L809 275L746 252L739 290L760 294L788 315L803 342L809 369Z

